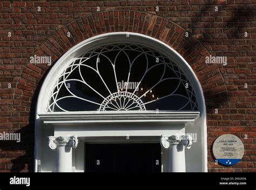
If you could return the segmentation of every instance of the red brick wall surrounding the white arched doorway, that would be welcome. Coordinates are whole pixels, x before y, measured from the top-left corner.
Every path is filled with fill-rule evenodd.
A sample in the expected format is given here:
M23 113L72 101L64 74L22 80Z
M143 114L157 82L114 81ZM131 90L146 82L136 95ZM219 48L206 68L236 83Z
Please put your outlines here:
M256 172L255 0L4 1L0 15L0 132L22 135L19 144L0 142L0 171L33 171L35 104L49 66L29 64L29 57L57 60L91 36L130 31L172 46L197 74L207 106L208 171ZM209 53L227 56L228 64L206 65ZM232 167L215 165L211 152L214 139L224 133L237 135L245 145L244 158Z

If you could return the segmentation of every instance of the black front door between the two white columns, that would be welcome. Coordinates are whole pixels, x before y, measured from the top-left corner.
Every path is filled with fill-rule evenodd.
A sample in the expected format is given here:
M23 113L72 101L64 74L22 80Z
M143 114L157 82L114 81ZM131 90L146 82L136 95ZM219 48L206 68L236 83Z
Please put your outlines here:
M85 144L85 172L161 172L160 143Z

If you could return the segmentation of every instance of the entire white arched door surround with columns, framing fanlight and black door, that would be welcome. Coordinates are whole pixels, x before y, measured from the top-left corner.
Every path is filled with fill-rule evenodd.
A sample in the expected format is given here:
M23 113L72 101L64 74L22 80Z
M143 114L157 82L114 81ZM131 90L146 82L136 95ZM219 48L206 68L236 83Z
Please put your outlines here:
M129 32L131 42L141 40L143 43L152 43L152 46L156 44L156 48L161 46L163 51L182 63L180 66L195 87L199 111L46 111L56 79L76 54L100 39L111 42L121 40L124 36L127 36L127 32L106 33L86 39L53 65L37 100L35 172L84 172L84 142L159 142L162 145L163 172L207 171L206 108L200 83L183 57L163 42L149 36ZM197 142L191 146L188 142L190 139L183 140L185 133L198 134ZM191 147L191 150L185 147ZM76 151L73 151L74 148Z

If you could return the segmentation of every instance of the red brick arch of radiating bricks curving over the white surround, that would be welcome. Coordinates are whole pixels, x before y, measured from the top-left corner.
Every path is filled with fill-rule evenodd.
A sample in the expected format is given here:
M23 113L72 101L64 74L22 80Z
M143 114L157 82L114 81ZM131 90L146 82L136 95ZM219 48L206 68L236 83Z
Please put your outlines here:
M51 56L55 63L66 51L83 40L107 32L137 32L166 43L176 50L191 65L203 88L207 112L213 105L221 107L227 89L223 76L216 64L205 64L210 53L193 35L185 36L186 30L176 23L151 13L133 10L109 10L92 13L75 19L53 33L31 56ZM70 32L71 37L67 37ZM44 64L24 66L17 82L16 103L28 105L32 102L35 89L40 84L49 66ZM25 100L23 102L23 100ZM16 104L16 105L17 105Z

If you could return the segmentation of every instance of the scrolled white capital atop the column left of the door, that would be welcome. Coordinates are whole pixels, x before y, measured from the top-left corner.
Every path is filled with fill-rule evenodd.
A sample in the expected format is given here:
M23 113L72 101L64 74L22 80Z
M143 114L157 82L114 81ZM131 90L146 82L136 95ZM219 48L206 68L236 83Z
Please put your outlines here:
M77 136L75 135L67 135L67 136L60 136L60 137L48 137L48 146L51 150L55 150L57 146L70 146L71 148L76 148L78 144Z

